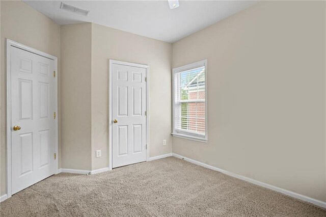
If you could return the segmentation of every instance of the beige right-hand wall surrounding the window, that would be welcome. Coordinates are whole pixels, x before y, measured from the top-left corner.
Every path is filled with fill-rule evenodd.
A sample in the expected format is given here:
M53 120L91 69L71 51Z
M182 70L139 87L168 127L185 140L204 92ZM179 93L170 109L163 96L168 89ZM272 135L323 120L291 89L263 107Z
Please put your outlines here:
M262 2L173 44L208 60L208 143L173 152L326 201L325 2Z

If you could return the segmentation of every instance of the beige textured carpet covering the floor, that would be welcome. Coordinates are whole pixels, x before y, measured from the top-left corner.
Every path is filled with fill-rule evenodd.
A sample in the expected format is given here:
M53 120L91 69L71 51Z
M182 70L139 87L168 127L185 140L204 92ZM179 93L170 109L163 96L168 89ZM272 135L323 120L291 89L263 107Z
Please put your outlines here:
M53 175L1 216L326 216L326 210L174 157L95 175Z

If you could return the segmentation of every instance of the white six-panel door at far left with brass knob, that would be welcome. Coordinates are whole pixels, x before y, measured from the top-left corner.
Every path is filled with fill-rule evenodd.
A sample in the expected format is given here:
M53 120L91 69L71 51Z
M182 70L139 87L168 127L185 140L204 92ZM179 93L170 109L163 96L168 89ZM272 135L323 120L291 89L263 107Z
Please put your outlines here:
M11 189L15 194L55 173L55 62L13 46L10 61L11 123L8 124L11 124Z

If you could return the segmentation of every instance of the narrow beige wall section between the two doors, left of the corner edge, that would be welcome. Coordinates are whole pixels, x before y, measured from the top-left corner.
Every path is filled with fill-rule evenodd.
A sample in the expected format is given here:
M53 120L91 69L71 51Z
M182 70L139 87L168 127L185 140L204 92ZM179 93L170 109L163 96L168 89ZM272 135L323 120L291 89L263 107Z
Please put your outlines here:
M62 168L91 170L92 24L61 26Z

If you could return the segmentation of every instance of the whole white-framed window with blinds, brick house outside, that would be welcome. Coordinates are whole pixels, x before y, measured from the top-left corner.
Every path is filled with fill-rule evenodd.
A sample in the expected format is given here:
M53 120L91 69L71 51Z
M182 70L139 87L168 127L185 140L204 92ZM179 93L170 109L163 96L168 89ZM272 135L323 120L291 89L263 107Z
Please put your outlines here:
M207 142L207 60L173 69L173 136Z

